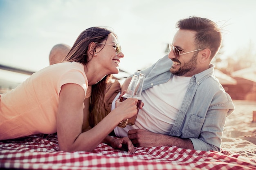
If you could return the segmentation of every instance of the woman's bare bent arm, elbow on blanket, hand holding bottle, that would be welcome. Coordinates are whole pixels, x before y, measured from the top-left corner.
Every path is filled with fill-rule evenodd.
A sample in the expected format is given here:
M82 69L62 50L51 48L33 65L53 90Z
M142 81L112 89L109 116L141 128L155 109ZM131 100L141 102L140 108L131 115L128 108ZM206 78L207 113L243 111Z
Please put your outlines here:
M137 113L137 99L121 102L94 128L82 133L84 90L76 84L65 84L59 95L57 133L60 150L92 151L116 126Z

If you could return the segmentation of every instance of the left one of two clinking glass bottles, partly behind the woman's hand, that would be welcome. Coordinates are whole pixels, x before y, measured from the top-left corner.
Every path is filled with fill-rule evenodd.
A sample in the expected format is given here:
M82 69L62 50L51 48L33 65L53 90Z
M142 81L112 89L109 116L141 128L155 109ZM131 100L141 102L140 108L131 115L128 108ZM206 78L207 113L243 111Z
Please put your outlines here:
M127 90L126 90L126 93L121 97L120 102L126 100L127 98L132 98L137 80L138 80L138 76L133 75L132 80L130 81L130 84L129 84ZM121 128L125 128L126 125L127 125L127 122L128 122L128 119L123 120L117 126L119 126Z

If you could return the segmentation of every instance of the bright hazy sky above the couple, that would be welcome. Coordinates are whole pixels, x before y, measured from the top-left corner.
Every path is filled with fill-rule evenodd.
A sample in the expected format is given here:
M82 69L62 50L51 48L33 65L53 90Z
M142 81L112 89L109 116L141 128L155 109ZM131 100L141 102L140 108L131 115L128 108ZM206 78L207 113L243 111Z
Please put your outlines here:
M38 71L54 45L108 26L122 46L120 68L133 73L164 57L176 22L189 16L223 27L223 55L235 58L250 42L256 49L255 7L255 0L0 0L0 64Z

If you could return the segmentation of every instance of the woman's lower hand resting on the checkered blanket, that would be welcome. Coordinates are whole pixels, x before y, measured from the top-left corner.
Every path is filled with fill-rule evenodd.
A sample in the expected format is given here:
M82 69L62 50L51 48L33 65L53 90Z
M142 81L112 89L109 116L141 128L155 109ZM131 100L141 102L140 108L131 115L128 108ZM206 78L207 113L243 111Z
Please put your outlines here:
M119 148L122 150L128 150L128 154L133 154L135 152L134 146L128 137L112 138L110 142L112 148Z

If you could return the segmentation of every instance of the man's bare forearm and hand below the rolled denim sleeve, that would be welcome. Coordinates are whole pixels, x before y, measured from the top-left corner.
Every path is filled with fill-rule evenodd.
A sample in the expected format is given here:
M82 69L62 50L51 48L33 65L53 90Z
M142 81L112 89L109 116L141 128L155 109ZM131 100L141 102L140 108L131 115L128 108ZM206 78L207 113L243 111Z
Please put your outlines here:
M132 129L128 131L128 137L134 146L177 146L178 148L194 149L190 139L153 133L142 129Z

